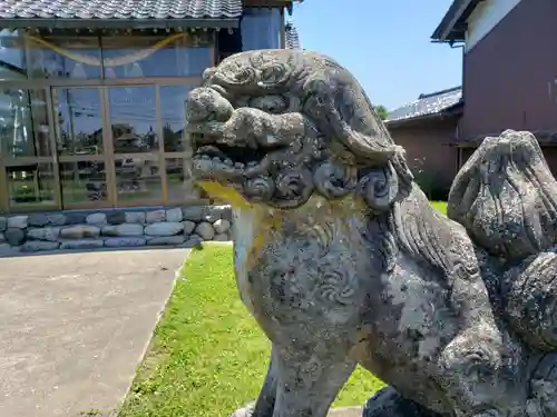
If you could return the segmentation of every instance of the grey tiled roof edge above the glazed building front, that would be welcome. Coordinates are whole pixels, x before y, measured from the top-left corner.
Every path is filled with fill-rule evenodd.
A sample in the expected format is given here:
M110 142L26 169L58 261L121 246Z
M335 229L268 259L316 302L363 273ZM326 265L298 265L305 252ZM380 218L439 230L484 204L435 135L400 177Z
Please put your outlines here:
M242 0L0 0L2 23L8 23L7 20L237 19L242 11Z

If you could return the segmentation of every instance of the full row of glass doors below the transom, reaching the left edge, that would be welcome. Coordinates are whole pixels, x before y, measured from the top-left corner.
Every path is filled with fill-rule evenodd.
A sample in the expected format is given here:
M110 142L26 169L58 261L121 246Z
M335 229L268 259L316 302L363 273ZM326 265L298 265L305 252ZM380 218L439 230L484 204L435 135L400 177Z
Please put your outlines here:
M0 211L198 203L179 82L0 90Z

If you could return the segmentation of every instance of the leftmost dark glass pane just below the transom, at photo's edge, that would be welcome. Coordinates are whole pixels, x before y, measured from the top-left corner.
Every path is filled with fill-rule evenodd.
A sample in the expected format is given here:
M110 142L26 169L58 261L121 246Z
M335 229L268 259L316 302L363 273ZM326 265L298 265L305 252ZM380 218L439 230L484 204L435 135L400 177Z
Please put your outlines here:
M45 90L0 90L0 141L6 156L51 156L49 132Z

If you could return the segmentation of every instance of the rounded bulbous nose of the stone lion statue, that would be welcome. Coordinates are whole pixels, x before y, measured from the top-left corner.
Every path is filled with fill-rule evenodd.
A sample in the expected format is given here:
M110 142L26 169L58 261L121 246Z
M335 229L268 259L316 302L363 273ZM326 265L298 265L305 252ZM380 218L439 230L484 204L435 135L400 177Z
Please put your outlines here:
M234 108L217 91L207 87L192 90L186 101L188 122L226 121Z

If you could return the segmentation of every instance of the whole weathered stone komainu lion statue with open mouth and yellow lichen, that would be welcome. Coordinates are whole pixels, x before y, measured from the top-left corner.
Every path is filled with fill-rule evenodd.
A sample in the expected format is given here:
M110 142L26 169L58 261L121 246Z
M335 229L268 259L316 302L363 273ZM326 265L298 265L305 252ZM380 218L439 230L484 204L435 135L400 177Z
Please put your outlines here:
M358 81L243 52L188 102L193 175L234 206L241 297L272 341L253 417L325 417L360 364L368 417L557 416L557 183L536 139L488 138L449 217Z

